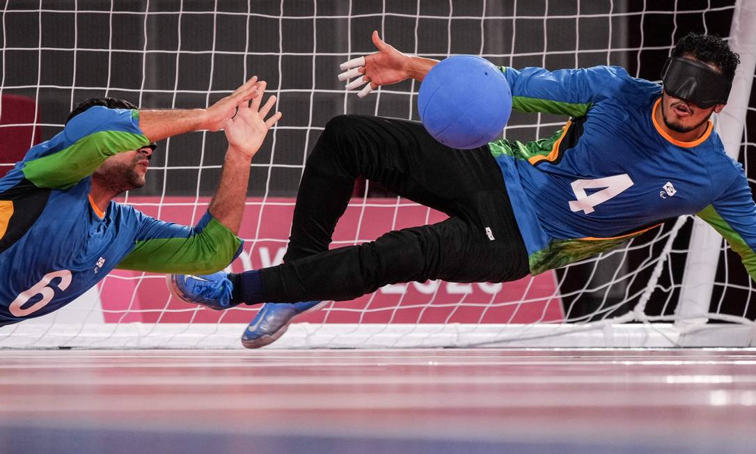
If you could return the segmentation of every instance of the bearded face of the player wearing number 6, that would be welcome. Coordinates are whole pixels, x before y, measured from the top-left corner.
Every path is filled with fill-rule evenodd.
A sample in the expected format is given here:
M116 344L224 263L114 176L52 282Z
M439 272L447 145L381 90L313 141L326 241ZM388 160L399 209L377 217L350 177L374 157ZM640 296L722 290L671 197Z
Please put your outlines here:
M111 156L102 163L93 178L117 194L144 186L147 168L152 159L152 148L124 151Z

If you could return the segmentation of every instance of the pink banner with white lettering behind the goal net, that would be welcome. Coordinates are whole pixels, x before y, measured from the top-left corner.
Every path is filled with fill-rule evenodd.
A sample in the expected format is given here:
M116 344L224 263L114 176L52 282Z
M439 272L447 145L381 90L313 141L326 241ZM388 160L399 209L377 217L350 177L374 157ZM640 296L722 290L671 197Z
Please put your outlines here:
M162 202L163 207L157 206ZM129 197L128 203L138 210L172 222L194 224L206 210L208 200L194 197ZM234 260L234 272L280 263L287 245L293 213L291 198L249 198L240 237L245 239L242 255ZM333 235L332 247L370 241L392 229L438 222L443 213L396 199L352 199ZM168 205L166 205L168 204ZM183 205L182 205L183 204ZM360 222L361 219L361 222ZM257 226L260 225L259 231ZM503 258L506 260L506 258ZM107 322L249 322L256 307L244 306L216 312L172 298L163 278L138 279L141 272L116 270L101 282L101 300ZM557 296L555 296L557 295ZM519 301L528 303L519 304ZM461 304L460 304L461 303ZM492 306L494 303L495 306ZM528 323L562 319L562 304L555 287L553 272L534 278L526 277L505 284L451 284L426 282L381 288L358 300L333 303L320 311L298 319L302 322L333 323ZM383 309L382 309L383 308ZM368 309L367 312L361 309Z

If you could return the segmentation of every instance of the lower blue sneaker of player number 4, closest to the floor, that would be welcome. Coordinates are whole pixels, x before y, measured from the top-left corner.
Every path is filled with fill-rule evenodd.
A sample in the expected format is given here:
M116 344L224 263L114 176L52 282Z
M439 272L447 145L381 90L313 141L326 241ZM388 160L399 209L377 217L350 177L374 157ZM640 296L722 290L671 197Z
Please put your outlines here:
M312 312L325 306L324 301L305 303L265 303L260 312L249 322L241 336L241 344L246 348L260 348L274 343L289 328L294 317Z

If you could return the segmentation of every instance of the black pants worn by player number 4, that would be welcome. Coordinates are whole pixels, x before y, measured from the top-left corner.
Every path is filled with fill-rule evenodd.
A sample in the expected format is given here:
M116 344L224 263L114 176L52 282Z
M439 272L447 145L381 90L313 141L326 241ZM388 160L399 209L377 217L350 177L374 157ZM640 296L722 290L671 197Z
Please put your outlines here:
M328 250L358 176L450 217ZM456 150L420 123L356 115L330 120L308 157L283 260L259 270L265 301L350 300L398 282L502 282L528 274L528 253L487 147Z

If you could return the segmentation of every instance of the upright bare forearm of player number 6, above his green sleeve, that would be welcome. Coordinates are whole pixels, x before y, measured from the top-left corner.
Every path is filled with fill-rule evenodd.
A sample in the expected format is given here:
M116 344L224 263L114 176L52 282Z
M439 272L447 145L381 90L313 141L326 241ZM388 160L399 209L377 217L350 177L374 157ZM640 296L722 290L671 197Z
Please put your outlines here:
M218 222L238 235L249 182L249 165L252 158L242 151L229 147L223 163L218 191L210 202L209 212Z

